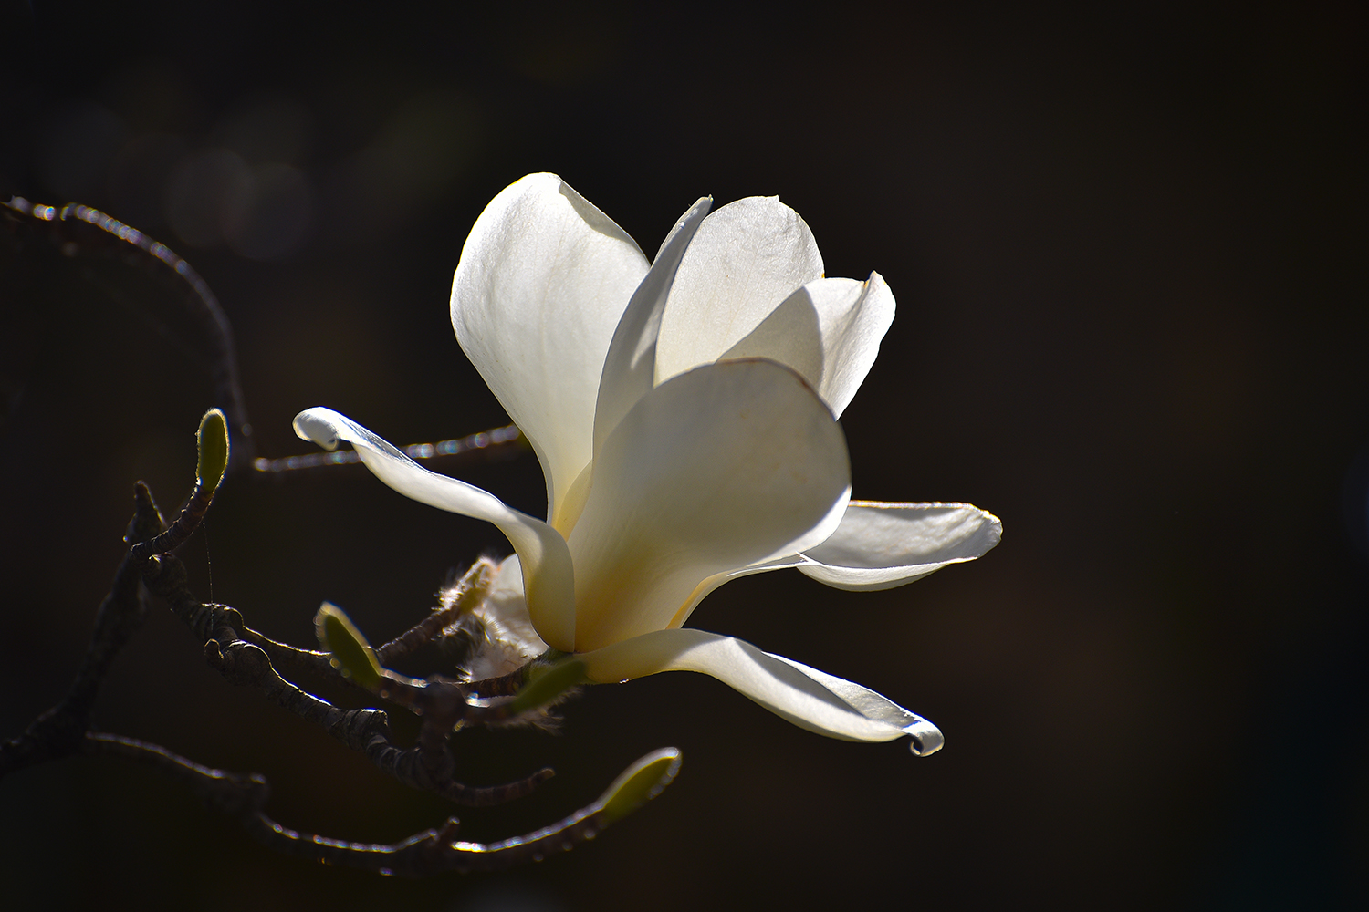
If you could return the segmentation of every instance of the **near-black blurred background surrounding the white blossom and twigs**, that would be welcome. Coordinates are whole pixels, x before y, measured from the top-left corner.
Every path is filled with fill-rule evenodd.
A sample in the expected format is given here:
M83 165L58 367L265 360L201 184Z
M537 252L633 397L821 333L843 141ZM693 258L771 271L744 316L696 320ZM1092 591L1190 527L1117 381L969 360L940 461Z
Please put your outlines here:
M314 405L400 443L505 421L446 301L523 174L561 174L649 254L700 194L779 194L828 275L898 297L842 421L856 496L971 500L1006 533L888 592L741 580L691 625L875 688L946 749L820 738L702 675L596 688L563 736L463 736L468 781L560 773L459 811L464 838L559 819L661 745L676 783L571 855L424 882L275 856L171 781L68 759L0 782L5 905L1358 908L1357 4L491 5L7 0L0 193L183 254L271 457L309 451L290 418ZM133 480L167 510L188 491L212 399L146 276L41 245L3 263L8 736L81 662ZM331 599L385 640L505 548L330 472L233 480L183 551L196 591L212 570L214 600L305 645ZM463 476L543 509L531 457ZM166 611L97 723L266 774L298 829L390 841L450 812L226 685Z

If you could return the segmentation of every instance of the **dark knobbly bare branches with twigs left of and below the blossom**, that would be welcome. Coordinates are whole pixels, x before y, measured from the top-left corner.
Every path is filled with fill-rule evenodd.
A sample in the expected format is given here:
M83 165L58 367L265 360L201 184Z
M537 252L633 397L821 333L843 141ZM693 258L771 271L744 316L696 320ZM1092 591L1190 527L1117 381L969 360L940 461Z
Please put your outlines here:
M226 466L241 469L251 461L259 472L281 473L314 465L355 462L356 454L252 461L252 429L242 403L227 319L204 280L164 245L89 206L68 204L59 209L33 205L19 197L0 204L0 227L29 235L47 234L67 256L85 252L114 254L142 264L159 276L174 278L181 290L178 299L205 330L215 399L227 412L225 416L211 410L205 423L201 423L201 461L196 488L170 528L166 528L148 488L138 483L134 518L125 536L130 548L100 606L86 660L60 703L44 712L21 736L0 742L0 775L75 752L133 757L186 782L211 807L238 818L256 838L282 852L330 864L404 875L489 870L541 860L552 852L594 838L605 826L669 783L679 768L679 752L674 748L642 757L598 801L535 833L493 844L463 842L456 840L456 818L449 818L441 829L419 833L397 844L376 845L331 840L281 826L261 811L270 789L260 775L214 770L160 745L92 730L90 716L100 684L119 649L140 629L146 615L146 589L163 598L190 628L203 644L205 660L227 681L253 686L277 706L320 725L334 738L364 753L375 766L405 785L459 804L485 805L528 794L553 775L550 768L542 768L515 782L481 788L455 779L456 760L450 736L456 729L463 725L509 722L519 718L520 712L530 715L507 697L527 677L522 670L475 684L437 677L405 678L385 671L385 689L379 690L381 695L422 716L418 744L400 748L393 742L389 718L383 711L338 708L285 680L272 665L278 663L292 674L307 671L333 682L348 681L334 667L335 656L277 643L246 628L235 608L199 602L186 585L185 566L170 552L183 544L200 524ZM215 427L220 448L216 451L216 461L207 457L207 423L218 423ZM226 448L229 438L234 440L231 448ZM424 459L502 455L526 450L526 438L516 427L507 425L460 440L415 444L407 453L412 458ZM207 469L211 465L216 466L212 472ZM455 621L470 614L487 589L491 567L489 561L476 562L461 580L450 603L381 647L376 651L379 658L389 663L409 656ZM549 677L539 681L545 684ZM393 693L389 692L392 688ZM564 688L557 693L563 692ZM476 693L481 696L474 696ZM541 695L528 699L546 700Z

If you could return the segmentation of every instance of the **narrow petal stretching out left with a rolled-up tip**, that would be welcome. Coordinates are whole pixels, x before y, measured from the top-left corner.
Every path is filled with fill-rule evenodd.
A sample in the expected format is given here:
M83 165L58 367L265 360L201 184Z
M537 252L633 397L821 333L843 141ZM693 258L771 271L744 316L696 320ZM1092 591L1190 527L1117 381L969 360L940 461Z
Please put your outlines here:
M375 477L407 498L439 510L493 522L508 536L523 567L527 607L538 634L568 652L575 639L575 572L561 535L489 491L428 472L390 443L333 409L308 409L294 417L294 432L324 450L338 440L356 447Z

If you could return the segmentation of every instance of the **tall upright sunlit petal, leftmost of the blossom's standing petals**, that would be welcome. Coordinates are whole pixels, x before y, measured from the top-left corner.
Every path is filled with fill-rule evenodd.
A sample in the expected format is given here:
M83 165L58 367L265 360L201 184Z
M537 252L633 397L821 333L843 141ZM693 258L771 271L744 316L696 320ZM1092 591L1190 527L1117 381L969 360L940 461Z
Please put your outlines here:
M646 267L622 228L550 174L494 197L461 249L452 327L537 451L553 524L591 458L604 354Z

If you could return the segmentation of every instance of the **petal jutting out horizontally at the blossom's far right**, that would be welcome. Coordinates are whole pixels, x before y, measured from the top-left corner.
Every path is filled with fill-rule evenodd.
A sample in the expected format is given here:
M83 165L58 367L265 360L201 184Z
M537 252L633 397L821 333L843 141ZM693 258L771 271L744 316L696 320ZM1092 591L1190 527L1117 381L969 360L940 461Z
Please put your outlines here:
M888 589L973 561L1002 533L998 517L968 503L852 500L832 537L804 551L798 569L839 589Z

